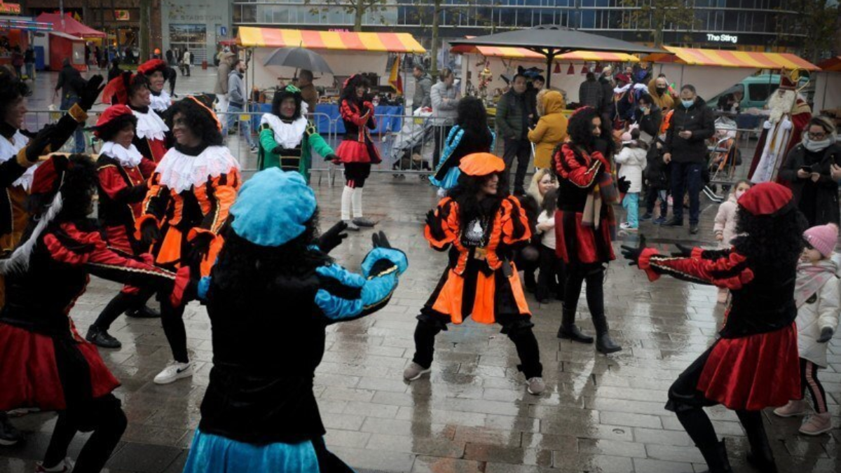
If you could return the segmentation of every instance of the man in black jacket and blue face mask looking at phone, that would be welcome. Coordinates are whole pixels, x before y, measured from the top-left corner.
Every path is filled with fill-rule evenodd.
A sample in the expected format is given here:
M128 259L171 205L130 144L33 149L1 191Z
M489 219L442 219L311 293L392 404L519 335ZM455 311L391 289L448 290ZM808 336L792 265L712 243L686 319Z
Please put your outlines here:
M672 162L672 218L665 226L683 226L683 196L689 190L689 232L698 233L701 216L702 178L706 166L706 140L716 132L712 110L695 87L680 88L680 103L674 107L671 125L666 132L663 161Z

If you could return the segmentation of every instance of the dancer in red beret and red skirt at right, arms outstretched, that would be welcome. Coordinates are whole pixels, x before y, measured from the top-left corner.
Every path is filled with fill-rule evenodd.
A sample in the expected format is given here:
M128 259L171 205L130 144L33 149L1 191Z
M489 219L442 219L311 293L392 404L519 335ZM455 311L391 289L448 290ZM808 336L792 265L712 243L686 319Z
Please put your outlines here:
M642 236L638 247L622 247L652 281L667 274L731 291L718 339L674 381L666 404L711 473L733 471L703 409L717 404L735 411L748 433L748 463L763 473L778 471L762 410L801 398L795 282L805 229L791 190L760 183L738 199L740 236L729 249L678 245L680 252L662 255L645 247Z

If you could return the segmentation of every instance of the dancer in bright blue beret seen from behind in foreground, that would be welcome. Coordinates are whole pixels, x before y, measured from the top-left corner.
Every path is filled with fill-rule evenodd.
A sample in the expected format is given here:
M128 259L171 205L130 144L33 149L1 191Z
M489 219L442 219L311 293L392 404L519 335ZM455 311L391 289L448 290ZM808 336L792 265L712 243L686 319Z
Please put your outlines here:
M408 265L382 231L352 273L328 256L344 222L318 236L315 193L270 168L243 184L225 247L199 284L214 366L185 473L351 473L325 447L313 393L325 328L388 304Z

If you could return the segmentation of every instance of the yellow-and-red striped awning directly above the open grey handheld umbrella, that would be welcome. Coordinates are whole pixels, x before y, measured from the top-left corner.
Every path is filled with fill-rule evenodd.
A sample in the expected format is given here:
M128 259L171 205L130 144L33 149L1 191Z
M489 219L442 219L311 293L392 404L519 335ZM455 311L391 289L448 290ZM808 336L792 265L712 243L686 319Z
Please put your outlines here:
M237 43L245 47L302 47L314 50L370 50L422 53L426 50L408 33L352 33L307 29L241 26Z

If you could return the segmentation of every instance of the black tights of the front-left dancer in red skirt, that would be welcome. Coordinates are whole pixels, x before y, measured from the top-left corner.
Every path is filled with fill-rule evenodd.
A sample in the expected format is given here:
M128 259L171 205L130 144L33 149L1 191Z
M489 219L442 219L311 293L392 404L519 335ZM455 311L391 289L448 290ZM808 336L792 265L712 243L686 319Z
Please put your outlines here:
M59 412L56 428L53 429L52 438L50 438L50 446L47 447L44 456L44 465L48 468L58 465L66 458L67 447L76 433L80 430L82 432L93 430L91 437L87 439L79 453L73 471L98 473L114 452L114 447L123 436L126 424L125 414L119 407L119 401L110 394L90 401L90 407L84 412Z

